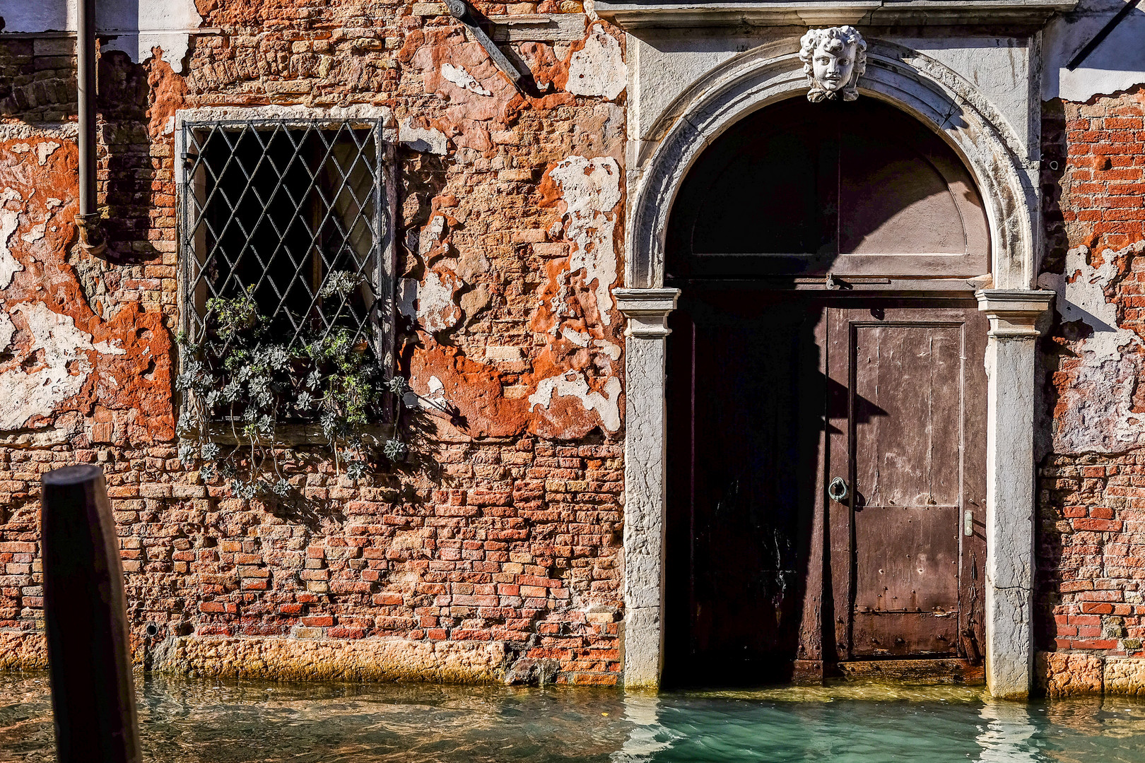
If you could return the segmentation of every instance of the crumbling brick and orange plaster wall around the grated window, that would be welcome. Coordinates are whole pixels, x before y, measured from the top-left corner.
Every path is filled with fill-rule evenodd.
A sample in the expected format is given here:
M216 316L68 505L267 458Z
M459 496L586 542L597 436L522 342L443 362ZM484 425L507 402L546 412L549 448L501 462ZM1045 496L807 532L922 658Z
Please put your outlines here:
M40 475L96 462L152 667L615 683L623 35L577 2L508 7L584 27L515 42L537 82L518 90L442 3L197 6L220 31L182 74L101 57L103 259L72 224L70 42L0 43L3 663L44 659ZM402 371L451 412L426 411L411 466L357 484L303 452L276 503L180 463L172 391L174 114L271 104L387 114Z

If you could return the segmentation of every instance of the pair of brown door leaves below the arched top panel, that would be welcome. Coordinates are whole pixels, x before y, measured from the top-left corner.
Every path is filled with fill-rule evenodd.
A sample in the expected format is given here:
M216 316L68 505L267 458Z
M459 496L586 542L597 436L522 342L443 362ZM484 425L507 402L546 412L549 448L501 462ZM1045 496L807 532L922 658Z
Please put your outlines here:
M977 659L977 305L693 287L672 327L665 677Z

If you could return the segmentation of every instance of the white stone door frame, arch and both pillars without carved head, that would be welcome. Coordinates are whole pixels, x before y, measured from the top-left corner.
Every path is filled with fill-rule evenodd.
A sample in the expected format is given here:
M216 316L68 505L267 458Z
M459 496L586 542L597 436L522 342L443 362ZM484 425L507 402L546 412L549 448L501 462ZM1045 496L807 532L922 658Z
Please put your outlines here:
M868 37L862 97L887 102L942 136L987 207L990 288L986 364L986 676L995 697L1029 693L1033 673L1035 323L1051 292L1036 291L1041 251L1040 157L970 80L933 57ZM641 57L632 55L630 90ZM807 92L798 35L748 50L687 87L629 152L627 288L615 289L626 329L624 684L655 688L663 667L666 400L665 341L679 292L664 288L664 238L676 193L703 149L747 114ZM634 62L632 61L634 58ZM1037 89L1033 88L1033 93ZM1041 104L1032 98L1029 109ZM1034 145L1029 149L1028 145Z

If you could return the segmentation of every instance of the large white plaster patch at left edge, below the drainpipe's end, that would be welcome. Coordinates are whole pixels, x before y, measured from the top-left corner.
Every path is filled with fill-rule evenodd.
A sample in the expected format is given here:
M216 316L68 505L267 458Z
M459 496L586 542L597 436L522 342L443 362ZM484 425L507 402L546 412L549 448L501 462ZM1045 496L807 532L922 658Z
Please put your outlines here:
M34 416L52 415L58 403L78 395L92 373L84 350L95 349L92 335L77 328L71 316L53 312L42 302L21 303L10 312L27 321L29 353L42 350L44 366L31 373L16 367L0 374L0 430L21 429ZM10 342L11 332L0 323L3 332Z

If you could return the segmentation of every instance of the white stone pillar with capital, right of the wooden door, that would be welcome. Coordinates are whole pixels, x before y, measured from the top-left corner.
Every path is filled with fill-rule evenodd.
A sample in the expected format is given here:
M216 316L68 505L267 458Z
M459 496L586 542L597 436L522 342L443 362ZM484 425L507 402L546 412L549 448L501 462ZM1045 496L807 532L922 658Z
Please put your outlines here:
M986 688L1029 696L1034 667L1034 357L1053 292L986 289Z

